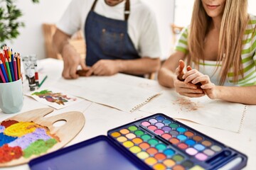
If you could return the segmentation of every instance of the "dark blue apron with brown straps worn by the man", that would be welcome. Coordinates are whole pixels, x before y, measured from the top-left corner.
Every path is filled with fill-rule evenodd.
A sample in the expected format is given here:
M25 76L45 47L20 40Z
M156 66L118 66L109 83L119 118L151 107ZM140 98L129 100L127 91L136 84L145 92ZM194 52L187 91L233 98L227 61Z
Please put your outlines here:
M95 0L85 21L86 65L98 60L133 60L140 58L128 35L129 0L125 3L124 21L95 13Z

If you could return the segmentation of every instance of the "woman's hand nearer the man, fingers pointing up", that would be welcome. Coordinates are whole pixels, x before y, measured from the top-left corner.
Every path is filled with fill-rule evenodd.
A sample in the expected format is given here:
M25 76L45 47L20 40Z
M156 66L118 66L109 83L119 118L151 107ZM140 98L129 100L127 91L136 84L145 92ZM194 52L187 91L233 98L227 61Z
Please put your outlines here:
M186 81L186 77L185 77L186 74L183 74L184 67L185 67L185 63L183 62L183 60L180 60L179 65L175 71L176 77L174 77L174 88L176 92L183 96L188 96L193 98L205 96L202 89L198 89L198 87L195 84L191 84L190 81Z

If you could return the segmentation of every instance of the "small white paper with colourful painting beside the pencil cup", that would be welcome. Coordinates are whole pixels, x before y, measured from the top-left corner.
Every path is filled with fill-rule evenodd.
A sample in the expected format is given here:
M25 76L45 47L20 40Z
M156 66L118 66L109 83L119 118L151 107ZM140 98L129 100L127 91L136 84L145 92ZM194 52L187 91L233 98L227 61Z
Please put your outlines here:
M82 98L65 94L63 91L53 88L40 89L27 95L35 98L36 101L56 109L65 108L66 106L82 101Z

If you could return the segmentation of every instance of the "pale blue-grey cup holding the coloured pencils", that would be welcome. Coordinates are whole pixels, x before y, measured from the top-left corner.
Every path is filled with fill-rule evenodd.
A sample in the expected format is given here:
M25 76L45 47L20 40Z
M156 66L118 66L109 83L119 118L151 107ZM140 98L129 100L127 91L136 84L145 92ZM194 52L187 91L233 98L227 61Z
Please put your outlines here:
M16 113L23 106L23 88L21 79L9 83L0 83L0 108L4 113Z

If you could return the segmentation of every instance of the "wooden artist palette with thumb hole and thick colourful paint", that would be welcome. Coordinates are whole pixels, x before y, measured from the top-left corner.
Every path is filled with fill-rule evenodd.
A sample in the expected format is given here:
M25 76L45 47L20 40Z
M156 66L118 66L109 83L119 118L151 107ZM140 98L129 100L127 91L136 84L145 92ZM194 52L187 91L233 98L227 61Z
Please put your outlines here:
M60 149L85 125L85 117L80 112L70 111L44 118L51 112L53 108L39 108L1 122L0 167L25 164ZM53 126L60 120L65 124Z

